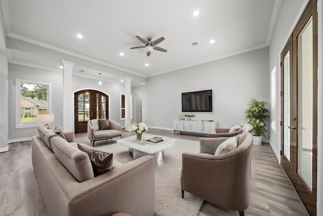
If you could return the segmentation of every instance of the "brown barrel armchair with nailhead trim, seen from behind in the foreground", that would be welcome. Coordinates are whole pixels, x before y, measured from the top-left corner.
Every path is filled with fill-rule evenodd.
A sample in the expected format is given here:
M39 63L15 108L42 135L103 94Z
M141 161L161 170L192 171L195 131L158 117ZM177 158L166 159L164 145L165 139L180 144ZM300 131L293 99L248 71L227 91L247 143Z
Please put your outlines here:
M238 135L238 147L215 156L218 146L229 139L200 138L200 153L183 153L181 188L201 199L244 215L250 202L252 135Z

